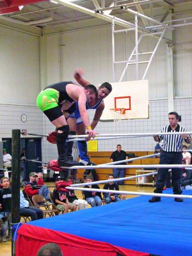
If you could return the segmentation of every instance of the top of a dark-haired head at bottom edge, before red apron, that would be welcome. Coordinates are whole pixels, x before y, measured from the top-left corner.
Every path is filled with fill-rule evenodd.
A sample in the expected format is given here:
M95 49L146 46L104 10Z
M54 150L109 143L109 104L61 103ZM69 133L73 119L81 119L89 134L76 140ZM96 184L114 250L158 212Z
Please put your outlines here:
M49 243L44 244L44 246L38 250L36 256L63 256L63 253L58 244Z

